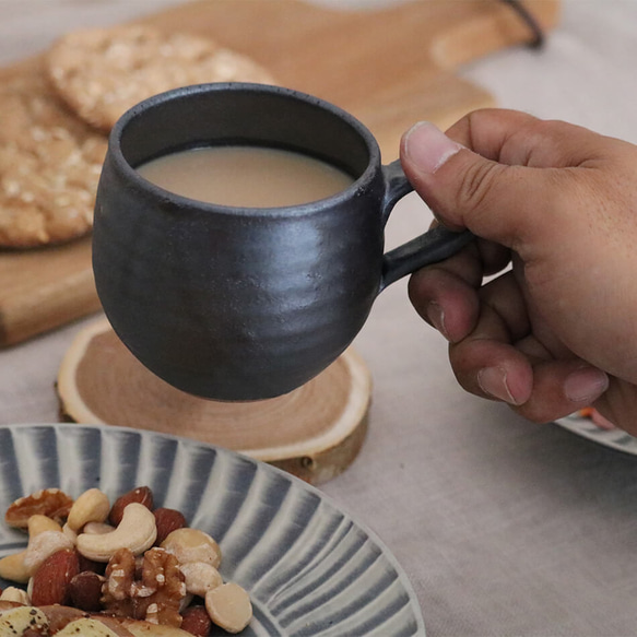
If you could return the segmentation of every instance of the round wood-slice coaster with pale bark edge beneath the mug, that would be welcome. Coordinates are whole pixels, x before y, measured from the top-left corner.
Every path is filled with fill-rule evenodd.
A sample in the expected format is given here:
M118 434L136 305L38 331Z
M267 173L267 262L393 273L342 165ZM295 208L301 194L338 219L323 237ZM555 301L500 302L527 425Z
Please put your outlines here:
M201 399L148 370L106 319L69 347L57 384L64 420L197 438L318 484L345 470L367 430L371 378L350 347L298 389L256 402Z

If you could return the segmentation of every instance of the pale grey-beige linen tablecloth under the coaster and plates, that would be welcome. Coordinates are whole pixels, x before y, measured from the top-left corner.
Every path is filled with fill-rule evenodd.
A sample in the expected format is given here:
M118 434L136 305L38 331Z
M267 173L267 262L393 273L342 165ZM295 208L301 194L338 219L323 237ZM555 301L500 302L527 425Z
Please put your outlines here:
M70 28L173 3L0 0L0 63ZM462 75L500 106L637 143L637 2L564 0L542 51L507 50ZM428 223L413 196L400 209L390 246ZM58 365L85 322L0 352L0 423L57 421ZM404 281L378 298L356 345L375 379L370 430L323 488L403 565L428 635L636 634L635 458L463 393Z

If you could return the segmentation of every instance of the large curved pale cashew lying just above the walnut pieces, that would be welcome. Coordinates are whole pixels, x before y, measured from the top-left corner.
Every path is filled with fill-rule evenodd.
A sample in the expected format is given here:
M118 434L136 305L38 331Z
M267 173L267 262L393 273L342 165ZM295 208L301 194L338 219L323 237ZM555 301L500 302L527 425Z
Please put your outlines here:
M133 555L140 555L153 545L156 536L155 516L144 505L131 503L123 509L117 529L110 533L80 533L78 551L89 559L108 562L119 548L129 548Z

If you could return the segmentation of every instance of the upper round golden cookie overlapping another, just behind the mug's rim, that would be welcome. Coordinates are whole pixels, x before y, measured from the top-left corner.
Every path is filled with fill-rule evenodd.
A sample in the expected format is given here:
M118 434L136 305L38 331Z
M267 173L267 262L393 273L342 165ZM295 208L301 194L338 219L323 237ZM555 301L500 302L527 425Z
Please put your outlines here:
M210 39L141 25L70 33L54 45L47 62L62 99L104 131L130 107L164 91L208 82L272 82L259 64Z

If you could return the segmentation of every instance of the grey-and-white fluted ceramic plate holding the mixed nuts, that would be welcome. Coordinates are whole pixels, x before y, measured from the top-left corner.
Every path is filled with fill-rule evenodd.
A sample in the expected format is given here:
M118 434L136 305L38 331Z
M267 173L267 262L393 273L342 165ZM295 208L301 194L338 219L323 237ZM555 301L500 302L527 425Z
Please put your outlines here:
M0 510L38 488L110 497L148 485L222 547L246 588L253 636L424 635L415 594L386 546L319 491L268 464L184 438L74 424L0 426ZM24 534L2 526L0 556ZM5 582L0 580L0 587Z

